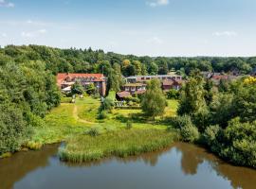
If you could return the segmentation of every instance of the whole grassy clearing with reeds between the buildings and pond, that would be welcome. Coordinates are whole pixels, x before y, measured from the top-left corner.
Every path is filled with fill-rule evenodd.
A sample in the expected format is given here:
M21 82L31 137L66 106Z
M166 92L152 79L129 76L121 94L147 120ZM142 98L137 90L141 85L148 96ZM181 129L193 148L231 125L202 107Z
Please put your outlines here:
M164 116L156 117L154 121L148 120L141 110L118 109L108 113L106 119L99 120L97 117L100 105L100 99L94 99L92 97L78 98L74 104L62 103L60 107L53 109L46 115L45 125L43 127L34 129L33 137L31 141L27 143L27 147L37 149L46 144L66 141L66 148L62 149L62 153L60 153L61 157L64 160L68 160L67 157L72 154L70 160L80 162L81 160L89 160L89 154L94 154L92 157L97 157L94 152L84 151L84 149L101 151L101 157L110 154L116 155L116 153L121 153L120 151L122 151L122 147L124 146L117 146L117 144L120 144L120 141L125 138L127 139L124 140L127 147L129 149L131 149L131 147L134 148L135 153L145 151L146 149L150 151L157 148L157 146L153 144L163 146L162 144L166 143L165 139L157 141L156 138L165 138L165 136L169 136L170 138L170 136L174 134L166 133L165 130L168 126L168 122L164 122L163 120L175 115L178 105L175 100L169 100ZM131 130L125 129L128 120L132 122L133 125ZM90 129L100 130L101 135L91 137L84 134ZM122 133L123 136L119 133ZM145 136L143 133L145 133ZM141 137L139 141L137 141L138 136ZM151 136L152 139L154 139L153 136L155 136L155 143L152 139L147 138L149 136ZM142 140L143 137L144 139ZM107 139L109 139L109 141L107 141ZM134 143L129 142L129 139L134 141ZM104 143L102 143L102 140ZM145 143L142 143L143 141ZM136 144L137 147L135 147ZM110 146L112 146L112 150L110 150ZM152 146L152 148L149 146ZM128 154L132 154L132 152Z

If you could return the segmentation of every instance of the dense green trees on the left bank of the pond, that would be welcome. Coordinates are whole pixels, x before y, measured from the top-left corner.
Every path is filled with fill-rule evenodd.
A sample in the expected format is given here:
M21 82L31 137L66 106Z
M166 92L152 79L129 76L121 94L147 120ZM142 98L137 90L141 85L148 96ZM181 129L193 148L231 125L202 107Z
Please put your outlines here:
M0 156L29 140L43 127L46 112L60 104L56 78L44 61L12 60L0 64Z

